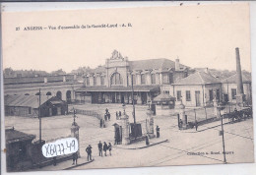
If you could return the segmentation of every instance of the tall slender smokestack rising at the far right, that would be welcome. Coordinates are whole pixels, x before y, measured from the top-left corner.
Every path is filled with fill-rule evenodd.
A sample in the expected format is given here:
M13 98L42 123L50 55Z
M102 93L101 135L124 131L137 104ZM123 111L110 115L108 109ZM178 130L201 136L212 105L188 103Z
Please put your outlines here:
M239 48L235 48L236 54L236 84L237 84L237 93L236 93L236 103L242 104L244 101L243 94L243 85L242 85L242 71L241 71L241 63L240 63L240 55Z

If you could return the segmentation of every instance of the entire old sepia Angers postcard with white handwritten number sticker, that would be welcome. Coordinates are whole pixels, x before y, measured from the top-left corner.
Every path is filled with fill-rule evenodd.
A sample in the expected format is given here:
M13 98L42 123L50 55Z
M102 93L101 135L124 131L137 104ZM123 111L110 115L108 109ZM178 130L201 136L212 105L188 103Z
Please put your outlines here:
M254 162L249 9L3 11L7 172Z

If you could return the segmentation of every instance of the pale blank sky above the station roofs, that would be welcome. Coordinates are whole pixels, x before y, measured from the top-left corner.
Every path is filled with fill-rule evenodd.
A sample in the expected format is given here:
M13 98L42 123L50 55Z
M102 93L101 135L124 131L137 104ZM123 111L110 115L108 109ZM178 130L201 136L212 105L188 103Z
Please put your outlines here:
M251 71L247 3L6 12L2 19L3 68L69 73L104 65L116 49L130 61L179 58L192 68L235 70L235 47L239 47L241 68ZM118 28L58 29L101 24ZM123 24L132 27L121 28Z

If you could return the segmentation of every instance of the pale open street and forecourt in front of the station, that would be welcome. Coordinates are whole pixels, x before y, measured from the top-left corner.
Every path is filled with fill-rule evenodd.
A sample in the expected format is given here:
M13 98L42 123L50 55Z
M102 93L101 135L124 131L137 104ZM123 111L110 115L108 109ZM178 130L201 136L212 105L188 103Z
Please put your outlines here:
M224 163L221 121L199 126L199 131L188 129L179 131L177 118L169 115L173 110L161 110L158 108L155 117L155 128L160 126L160 139L168 142L156 146L139 149L125 149L113 146L112 155L99 157L97 150L98 141L114 144L114 127L116 111L123 111L120 104L103 105L77 105L75 108L91 109L104 113L105 108L111 114L110 121L106 122L106 128L99 128L96 117L77 114L76 122L80 126L80 152L79 163L87 161L85 151L88 145L93 146L93 158L95 161L74 167L74 169L88 168L114 168L114 167L139 167L139 166L166 166L189 164L216 164ZM136 106L136 120L143 121L146 118L148 106ZM71 110L72 107L70 106ZM126 106L130 122L132 106ZM174 113L174 112L173 112ZM6 126L14 126L16 130L36 135L38 140L38 119L25 117L6 117ZM70 127L73 116L54 116L42 118L42 139L46 141L56 140L70 135ZM212 128L212 126L218 126ZM202 130L202 131L200 131ZM156 131L155 131L156 132ZM150 140L154 142L154 140ZM136 144L135 144L136 145ZM145 142L137 145L145 146ZM227 163L252 162L253 161L253 120L248 119L234 124L224 125L224 145ZM125 147L125 146L124 146ZM46 166L41 170L65 169L71 166L71 161L59 163L56 167Z

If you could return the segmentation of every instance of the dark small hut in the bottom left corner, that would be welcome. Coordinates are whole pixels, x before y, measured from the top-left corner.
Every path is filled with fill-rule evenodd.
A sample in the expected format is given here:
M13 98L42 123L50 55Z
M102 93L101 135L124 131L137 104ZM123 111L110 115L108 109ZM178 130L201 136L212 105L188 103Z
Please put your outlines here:
M7 171L26 170L32 167L32 140L29 135L12 129L5 130Z

